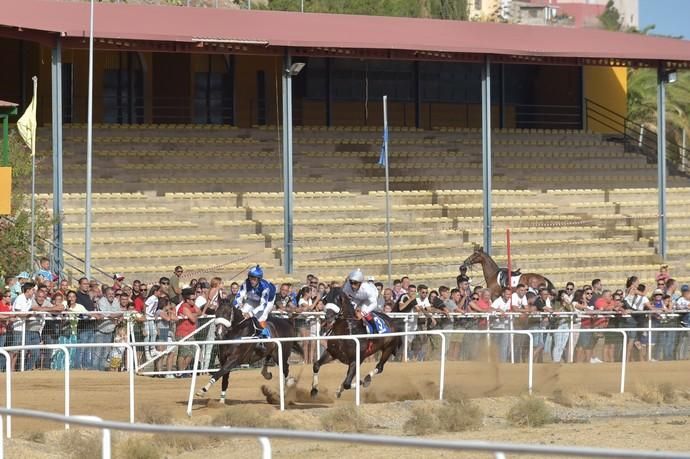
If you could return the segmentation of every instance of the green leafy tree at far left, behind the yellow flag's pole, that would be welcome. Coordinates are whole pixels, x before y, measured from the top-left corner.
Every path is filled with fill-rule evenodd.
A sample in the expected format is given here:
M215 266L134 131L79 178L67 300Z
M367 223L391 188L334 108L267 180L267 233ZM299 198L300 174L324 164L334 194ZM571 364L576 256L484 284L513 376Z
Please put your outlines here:
M12 167L12 214L0 218L0 275L16 275L32 269L31 249L31 152L15 132L10 134ZM37 167L40 166L40 163ZM36 255L47 253L41 238L47 238L52 221L45 202L36 201Z

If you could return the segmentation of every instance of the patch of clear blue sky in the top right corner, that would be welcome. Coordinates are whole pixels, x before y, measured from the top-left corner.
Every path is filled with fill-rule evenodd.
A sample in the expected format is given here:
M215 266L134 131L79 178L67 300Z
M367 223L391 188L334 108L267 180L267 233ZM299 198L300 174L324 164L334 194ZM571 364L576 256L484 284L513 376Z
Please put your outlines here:
M654 34L690 40L690 0L640 0L640 29L651 24Z

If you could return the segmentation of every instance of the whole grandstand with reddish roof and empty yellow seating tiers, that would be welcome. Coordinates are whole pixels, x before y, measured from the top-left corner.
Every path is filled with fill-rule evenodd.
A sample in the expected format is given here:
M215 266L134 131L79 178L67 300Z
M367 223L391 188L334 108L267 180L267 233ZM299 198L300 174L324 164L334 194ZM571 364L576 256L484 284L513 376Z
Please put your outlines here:
M79 82L86 52L74 18L86 5L11 2L15 8L0 23L2 58L21 68L0 77L2 98L24 101L21 75L36 69L47 82L52 74L42 56L63 54L65 247L80 255L86 95ZM32 7L55 23L32 22ZM188 272L227 278L261 262L273 279L285 278L277 124L286 51L306 64L293 88L290 279L312 271L339 278L354 264L377 278L386 272L384 171L377 164L384 93L392 125L394 274L434 282L455 276L482 241L484 64L494 75L499 263L511 228L515 263L556 282L602 277L620 284L630 272L647 277L657 268L657 169L625 129L625 67L661 59L685 68L690 53L683 43L453 21L96 7L103 21L96 32L93 261L107 272L154 280L183 263ZM352 37L353 21L363 20L377 25ZM232 40L202 39L224 37L229 26ZM53 48L57 33L64 52ZM581 43L597 43L597 51ZM42 100L50 100L49 85L40 88ZM59 146L50 141L48 105L39 110L37 186L49 203L50 157ZM612 125L602 113L624 121ZM674 169L668 185L670 261L685 274L690 183Z

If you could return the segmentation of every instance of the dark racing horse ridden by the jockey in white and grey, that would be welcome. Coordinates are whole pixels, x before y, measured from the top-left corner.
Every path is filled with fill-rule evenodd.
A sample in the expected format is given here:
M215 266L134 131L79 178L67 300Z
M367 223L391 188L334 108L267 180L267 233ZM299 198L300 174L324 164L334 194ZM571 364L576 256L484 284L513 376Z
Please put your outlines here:
M340 289L334 288L326 295L324 298L324 304L332 303L339 308L338 312L334 312L332 309L326 310L326 336L329 335L366 335L367 330L364 328L364 324L360 319L357 319L354 314L354 308L350 302L350 298L343 293ZM388 325L388 328L392 332L397 330L395 322L385 314L378 314L378 316ZM360 356L359 361L362 362L364 359L376 352L381 352L381 358L374 368L361 382L364 387L369 386L372 377L379 373L383 373L383 366L386 364L388 359L392 354L395 354L398 347L400 347L401 339L399 336L389 336L378 339L361 339L360 340ZM347 368L347 375L342 385L336 391L336 396L340 397L343 390L350 389L352 386L352 379L355 376L355 371L357 370L357 360L356 360L356 347L352 340L328 340L328 346L326 347L326 352L321 355L321 358L314 362L314 376L311 386L311 396L316 397L319 393L319 369L322 365L330 362L331 360L339 360Z

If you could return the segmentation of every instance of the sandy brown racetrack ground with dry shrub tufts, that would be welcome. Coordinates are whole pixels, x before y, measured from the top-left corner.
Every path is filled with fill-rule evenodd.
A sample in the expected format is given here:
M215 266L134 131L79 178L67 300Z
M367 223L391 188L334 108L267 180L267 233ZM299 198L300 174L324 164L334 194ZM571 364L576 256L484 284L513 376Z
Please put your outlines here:
M362 374L373 363L362 367ZM438 404L438 362L390 363L383 374L374 379L371 387L363 389L361 423L367 432L384 435L404 435L403 425L418 404ZM446 394L464 394L478 404L485 414L483 426L462 433L439 433L429 438L481 439L521 443L610 446L634 449L665 449L690 451L687 425L690 415L690 362L632 363L628 367L626 393L618 394L620 364L599 365L535 365L534 393L552 400L561 391L571 395L572 406L564 407L553 401L548 404L555 411L559 423L540 428L510 426L506 413L527 391L526 365L496 365L449 362L446 366ZM277 369L276 371L277 372ZM265 392L277 391L274 378L267 382L258 371L233 372L230 379L229 400L221 406L217 401L220 384L211 391L209 400L197 399L191 418L185 410L190 379L168 380L148 377L135 378L137 420L147 422L151 412L166 412L172 422L208 424L223 410L256 411L275 418L293 428L320 430L322 418L334 410L354 405L354 391L341 399L332 396L344 377L345 367L331 364L321 370L321 394L317 400L308 396L311 368L296 365L291 372L298 378L297 388L288 394L288 410L280 413L267 403ZM13 406L61 413L64 408L64 375L57 372L27 372L13 374ZM203 384L207 376L198 380ZM679 394L672 403L649 403L640 394L661 383L671 384ZM0 377L4 385L4 375ZM128 375L126 373L96 373L74 371L71 376L72 414L97 415L104 419L128 419ZM262 391L262 386L264 390ZM4 404L4 390L0 396ZM148 414L147 414L148 413ZM61 426L27 419L13 419L15 439L10 441L8 457L68 457L74 451L55 448L64 444ZM120 440L124 437L121 436ZM203 457L223 452L222 457L259 457L255 440L200 439L183 448L166 449L167 457ZM69 443L69 442L67 442ZM98 443L94 443L97 448ZM209 447L205 447L210 445ZM406 458L428 455L429 452L373 448L351 444L317 444L303 441L273 441L275 457L323 458L377 457ZM188 450L188 451L185 451ZM440 457L459 457L458 453L434 452ZM93 457L99 455L94 450ZM80 454L83 456L83 454ZM467 453L460 457L482 457ZM488 456L487 456L488 457Z

